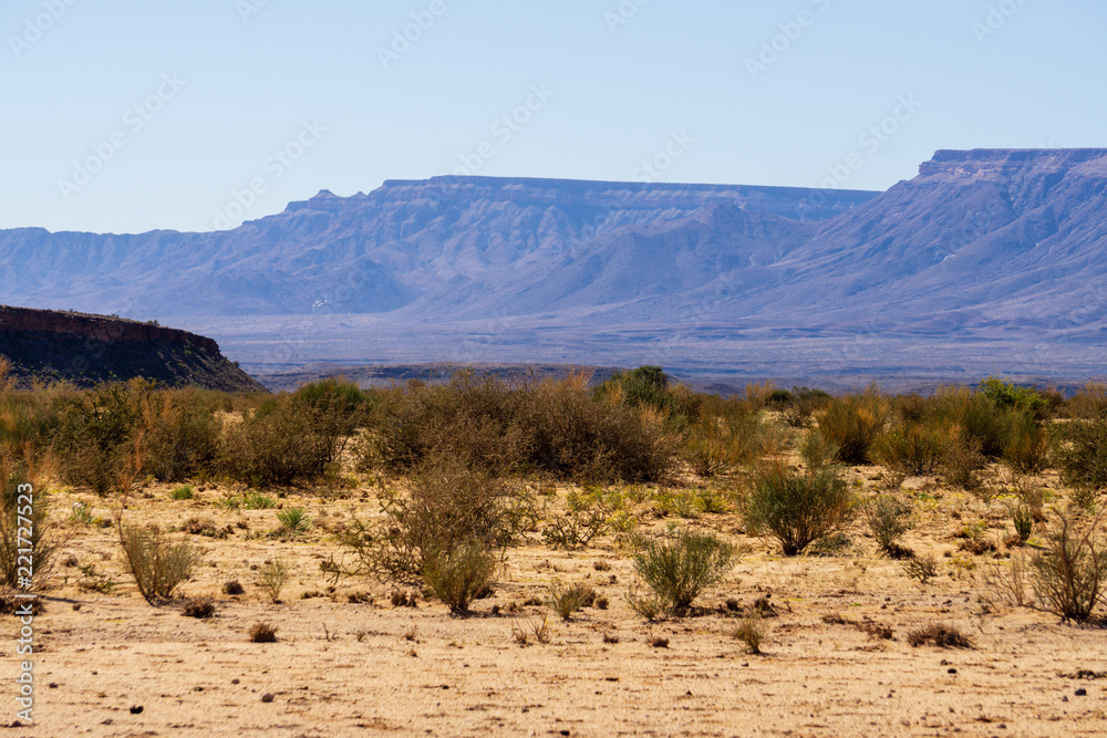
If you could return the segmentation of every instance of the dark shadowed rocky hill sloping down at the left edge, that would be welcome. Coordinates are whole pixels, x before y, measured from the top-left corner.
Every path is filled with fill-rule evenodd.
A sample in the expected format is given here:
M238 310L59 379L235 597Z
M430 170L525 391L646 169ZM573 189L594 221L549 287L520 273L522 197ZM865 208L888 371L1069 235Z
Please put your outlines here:
M0 305L0 356L20 386L145 377L170 387L261 389L211 339L106 315Z

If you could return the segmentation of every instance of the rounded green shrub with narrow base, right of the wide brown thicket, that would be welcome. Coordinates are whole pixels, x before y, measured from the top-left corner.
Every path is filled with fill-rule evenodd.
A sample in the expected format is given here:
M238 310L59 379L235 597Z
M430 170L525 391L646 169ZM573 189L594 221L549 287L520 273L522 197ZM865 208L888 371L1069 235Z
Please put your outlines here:
M842 529L852 520L855 507L852 492L834 467L798 475L773 464L755 475L742 513L751 531L767 531L790 557Z

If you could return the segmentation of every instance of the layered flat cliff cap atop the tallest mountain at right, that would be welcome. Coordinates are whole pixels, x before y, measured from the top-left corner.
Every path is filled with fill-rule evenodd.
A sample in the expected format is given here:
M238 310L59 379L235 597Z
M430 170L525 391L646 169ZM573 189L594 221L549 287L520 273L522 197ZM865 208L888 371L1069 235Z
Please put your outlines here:
M939 149L919 165L923 177L949 175L1006 179L1018 174L1049 175L1077 170L1107 176L1107 148L973 148Z

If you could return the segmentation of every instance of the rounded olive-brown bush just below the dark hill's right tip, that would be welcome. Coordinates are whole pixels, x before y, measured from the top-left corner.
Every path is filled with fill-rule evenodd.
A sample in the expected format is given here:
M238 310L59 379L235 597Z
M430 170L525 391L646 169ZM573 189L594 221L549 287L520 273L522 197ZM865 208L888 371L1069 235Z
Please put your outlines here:
M265 401L228 429L220 467L254 487L310 481L338 454L335 439L318 429L319 412L288 395Z

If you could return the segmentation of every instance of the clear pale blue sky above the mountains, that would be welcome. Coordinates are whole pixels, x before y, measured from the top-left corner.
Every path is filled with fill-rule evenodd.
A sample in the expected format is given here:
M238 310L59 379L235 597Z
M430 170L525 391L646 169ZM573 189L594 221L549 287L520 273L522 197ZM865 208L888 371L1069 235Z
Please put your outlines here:
M1099 0L10 0L0 228L211 230L475 169L884 189L938 148L1107 145L1105 28Z

